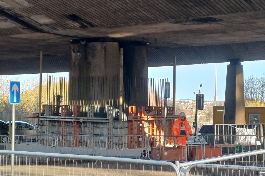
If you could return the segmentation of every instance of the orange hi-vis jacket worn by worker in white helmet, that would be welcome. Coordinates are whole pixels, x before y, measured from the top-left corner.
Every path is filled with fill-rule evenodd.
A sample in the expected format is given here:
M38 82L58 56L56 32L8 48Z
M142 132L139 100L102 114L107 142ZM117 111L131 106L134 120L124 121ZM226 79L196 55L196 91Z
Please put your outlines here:
M185 130L185 135L183 135L183 136L188 136L188 134L192 135L191 126L190 126L189 122L187 121L187 119L182 121L181 117L179 117L173 123L173 135L174 136L180 136L181 130ZM187 137L187 141L188 141L188 137Z

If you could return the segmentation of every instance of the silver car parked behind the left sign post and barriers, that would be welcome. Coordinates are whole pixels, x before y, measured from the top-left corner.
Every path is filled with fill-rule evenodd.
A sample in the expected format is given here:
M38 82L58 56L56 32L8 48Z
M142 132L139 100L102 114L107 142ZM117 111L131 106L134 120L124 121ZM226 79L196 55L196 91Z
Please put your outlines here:
M12 123L12 121L11 121ZM26 136L26 135L37 135L39 128L33 126L30 123L23 121L15 121L16 123L16 135L21 135L16 137L16 141L37 141L37 136ZM9 121L6 122L7 126Z

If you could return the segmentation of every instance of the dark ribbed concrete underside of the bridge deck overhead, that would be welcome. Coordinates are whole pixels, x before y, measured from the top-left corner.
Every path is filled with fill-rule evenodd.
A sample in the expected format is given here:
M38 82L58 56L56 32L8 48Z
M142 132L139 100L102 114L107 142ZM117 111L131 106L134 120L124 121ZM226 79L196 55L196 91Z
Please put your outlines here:
M0 75L37 73L40 50L44 72L67 72L68 45L79 38L147 44L150 67L172 65L175 56L177 65L265 58L265 3L259 0L26 0L0 6Z

